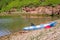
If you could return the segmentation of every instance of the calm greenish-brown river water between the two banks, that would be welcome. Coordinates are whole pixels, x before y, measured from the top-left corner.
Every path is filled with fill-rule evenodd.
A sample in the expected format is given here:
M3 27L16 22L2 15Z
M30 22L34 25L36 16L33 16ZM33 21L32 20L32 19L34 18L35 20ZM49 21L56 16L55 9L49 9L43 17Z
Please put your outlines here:
M35 25L44 23L46 21L57 20L58 18L0 18L0 36L8 35L12 32L19 31L25 26L29 26L30 23Z

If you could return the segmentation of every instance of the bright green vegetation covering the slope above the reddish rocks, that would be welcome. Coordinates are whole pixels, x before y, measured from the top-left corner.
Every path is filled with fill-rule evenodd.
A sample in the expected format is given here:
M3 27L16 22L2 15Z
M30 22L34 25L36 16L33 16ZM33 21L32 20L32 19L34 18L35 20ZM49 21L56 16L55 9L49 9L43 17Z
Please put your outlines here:
M53 6L58 5L60 0L0 0L0 12L10 10L13 7L19 9L24 6L36 7L50 4Z

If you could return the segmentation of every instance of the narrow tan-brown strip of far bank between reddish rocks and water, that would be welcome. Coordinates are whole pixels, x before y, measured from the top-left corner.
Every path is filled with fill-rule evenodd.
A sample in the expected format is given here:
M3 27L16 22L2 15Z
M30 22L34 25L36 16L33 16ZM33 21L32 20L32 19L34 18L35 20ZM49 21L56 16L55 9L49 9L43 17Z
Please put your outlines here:
M49 14L40 14L40 13L27 13L27 12L11 12L11 13L6 13L2 12L0 13L0 18L1 17L21 17L21 18L41 18L41 17L59 17L60 15L53 14L53 16Z

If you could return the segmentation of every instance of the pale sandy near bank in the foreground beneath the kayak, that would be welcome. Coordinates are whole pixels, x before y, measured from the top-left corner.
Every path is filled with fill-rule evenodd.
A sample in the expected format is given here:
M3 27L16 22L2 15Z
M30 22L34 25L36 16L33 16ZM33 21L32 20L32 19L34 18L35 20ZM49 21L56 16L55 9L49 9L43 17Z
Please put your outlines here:
M60 19L56 20L56 22L57 25L50 29L26 31L23 34L19 31L5 37L0 37L0 40L60 40Z

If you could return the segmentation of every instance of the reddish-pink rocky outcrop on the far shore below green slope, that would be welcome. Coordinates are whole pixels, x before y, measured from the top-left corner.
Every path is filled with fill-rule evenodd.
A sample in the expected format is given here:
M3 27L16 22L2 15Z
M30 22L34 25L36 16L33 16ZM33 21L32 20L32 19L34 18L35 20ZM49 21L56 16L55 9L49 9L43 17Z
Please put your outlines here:
M60 13L60 5L57 6L39 6L39 7L24 7L22 8L24 12L31 14L59 14Z

